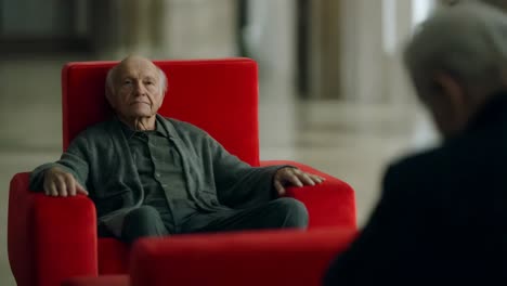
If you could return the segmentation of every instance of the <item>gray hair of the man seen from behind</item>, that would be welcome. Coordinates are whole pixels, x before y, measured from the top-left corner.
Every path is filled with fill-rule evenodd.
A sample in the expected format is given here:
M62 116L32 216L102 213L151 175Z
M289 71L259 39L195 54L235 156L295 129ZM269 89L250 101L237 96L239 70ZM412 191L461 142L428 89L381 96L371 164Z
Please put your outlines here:
M418 27L404 62L416 87L430 88L433 73L443 72L466 89L499 89L507 70L507 15L474 1L442 8Z

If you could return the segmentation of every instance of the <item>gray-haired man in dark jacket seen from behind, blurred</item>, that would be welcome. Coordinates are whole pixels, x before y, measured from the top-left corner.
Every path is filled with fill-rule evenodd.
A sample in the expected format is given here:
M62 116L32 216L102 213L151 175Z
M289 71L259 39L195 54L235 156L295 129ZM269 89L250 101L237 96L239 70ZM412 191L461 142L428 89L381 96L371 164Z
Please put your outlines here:
M437 11L405 64L444 142L390 166L325 285L505 285L507 16L474 2Z

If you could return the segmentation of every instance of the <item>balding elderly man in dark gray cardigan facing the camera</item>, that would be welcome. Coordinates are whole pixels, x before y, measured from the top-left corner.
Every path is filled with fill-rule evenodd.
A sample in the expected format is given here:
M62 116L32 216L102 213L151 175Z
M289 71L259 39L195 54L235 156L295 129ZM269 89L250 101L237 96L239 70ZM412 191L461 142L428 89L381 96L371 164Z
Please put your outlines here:
M167 82L151 61L112 68L106 98L116 113L79 134L56 162L36 168L31 190L89 195L99 234L143 236L246 229L306 227L308 212L284 186L324 179L290 166L253 168L205 131L157 115Z

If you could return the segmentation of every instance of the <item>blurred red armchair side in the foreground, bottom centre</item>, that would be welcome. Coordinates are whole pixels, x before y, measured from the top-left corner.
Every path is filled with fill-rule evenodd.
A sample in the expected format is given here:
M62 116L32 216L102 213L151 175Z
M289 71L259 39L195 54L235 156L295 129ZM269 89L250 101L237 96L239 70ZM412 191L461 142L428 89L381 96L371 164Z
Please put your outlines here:
M350 229L181 235L138 240L131 285L321 285Z

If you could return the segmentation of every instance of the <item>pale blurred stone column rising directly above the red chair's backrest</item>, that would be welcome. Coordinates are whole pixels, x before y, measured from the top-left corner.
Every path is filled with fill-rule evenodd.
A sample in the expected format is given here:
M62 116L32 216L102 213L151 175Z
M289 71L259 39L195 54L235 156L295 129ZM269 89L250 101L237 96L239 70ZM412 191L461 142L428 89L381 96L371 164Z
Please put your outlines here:
M156 0L160 25L154 54L162 58L224 57L237 54L235 0Z

